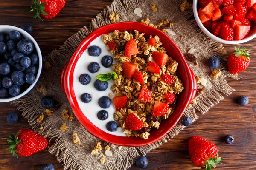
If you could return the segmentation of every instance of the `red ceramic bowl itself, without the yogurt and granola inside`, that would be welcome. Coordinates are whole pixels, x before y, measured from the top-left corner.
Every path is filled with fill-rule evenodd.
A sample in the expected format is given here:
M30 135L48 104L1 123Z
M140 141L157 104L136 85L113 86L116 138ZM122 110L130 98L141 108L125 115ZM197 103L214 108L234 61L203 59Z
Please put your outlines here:
M88 45L90 45L90 42L92 42L96 37L99 37L102 34L113 32L114 30L137 30L141 33L145 33L145 37L149 35L153 35L154 37L155 35L157 35L160 38L161 42L163 42L163 47L166 48L167 54L171 56L173 59L177 60L177 62L179 63L177 68L177 75L184 83L184 90L179 95L177 107L175 108L175 111L172 113L169 119L166 119L161 122L160 128L158 130L150 131L150 136L148 137L147 140L144 140L140 137L115 136L100 130L98 127L93 125L87 119L87 117L84 116L84 114L81 112L81 109L79 108L74 93L73 73L76 66L76 62L81 57L81 54L84 52L84 50L87 49ZM67 99L71 105L73 113L75 114L76 118L79 120L81 125L83 125L89 133L111 144L134 147L144 146L156 142L157 140L165 136L170 130L172 130L172 128L180 120L180 117L183 115L189 103L192 102L192 99L195 97L197 89L195 76L193 72L189 68L189 65L187 64L186 59L183 56L182 52L177 47L177 45L171 40L171 38L169 38L165 33L156 28L145 25L143 23L136 22L113 23L106 26L102 26L93 31L88 37L86 37L81 42L73 56L70 58L67 65L64 67L61 75L61 86L64 93L67 95Z

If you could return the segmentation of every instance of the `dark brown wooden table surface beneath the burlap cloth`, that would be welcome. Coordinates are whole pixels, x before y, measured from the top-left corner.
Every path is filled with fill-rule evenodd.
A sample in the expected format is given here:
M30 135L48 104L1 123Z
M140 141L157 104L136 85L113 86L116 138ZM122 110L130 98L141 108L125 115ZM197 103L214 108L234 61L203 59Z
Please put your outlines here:
M0 0L0 24L20 27L23 23L33 26L32 36L41 47L43 56L63 44L68 37L80 28L90 26L90 20L96 17L112 0L67 0L65 8L52 20L32 19L29 0ZM50 39L50 42L49 42ZM224 157L224 165L218 165L218 170L255 170L256 169L256 39L241 45L251 49L251 63L246 71L239 74L239 80L228 79L236 92L225 97L220 104L212 108L206 115L200 116L196 123L187 127L171 141L147 154L148 170L194 170L189 157L188 141L193 135L200 135L215 143ZM233 45L225 45L228 52L233 51ZM250 103L239 106L236 99L247 95ZM19 120L15 124L6 122L6 116L16 112ZM2 170L39 170L43 164L51 163L56 169L63 166L53 155L43 150L29 157L12 157L6 148L8 133L15 133L20 128L29 128L27 120L16 111L10 103L0 104L0 169ZM235 142L225 144L223 137L232 134ZM53 142L53 141L52 141ZM51 143L52 143L51 142ZM136 166L130 168L137 169Z

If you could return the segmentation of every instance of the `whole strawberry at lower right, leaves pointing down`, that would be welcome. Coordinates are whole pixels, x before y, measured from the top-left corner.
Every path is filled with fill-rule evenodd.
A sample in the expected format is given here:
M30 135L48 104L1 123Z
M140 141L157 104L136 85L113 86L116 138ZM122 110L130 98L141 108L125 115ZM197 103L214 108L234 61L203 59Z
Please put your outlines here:
M201 136L193 136L189 139L189 155L192 163L201 169L211 170L216 164L222 164L223 159L218 157L218 148L212 142Z

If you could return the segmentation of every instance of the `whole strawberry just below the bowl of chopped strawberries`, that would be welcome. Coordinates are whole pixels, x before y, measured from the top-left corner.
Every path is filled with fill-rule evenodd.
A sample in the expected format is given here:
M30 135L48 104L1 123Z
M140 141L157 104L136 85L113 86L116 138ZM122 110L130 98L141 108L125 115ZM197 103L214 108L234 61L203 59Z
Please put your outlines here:
M240 50L239 48L235 47L235 51L230 53L227 59L227 68L231 74L240 73L244 71L250 63L250 50L246 50L243 48Z

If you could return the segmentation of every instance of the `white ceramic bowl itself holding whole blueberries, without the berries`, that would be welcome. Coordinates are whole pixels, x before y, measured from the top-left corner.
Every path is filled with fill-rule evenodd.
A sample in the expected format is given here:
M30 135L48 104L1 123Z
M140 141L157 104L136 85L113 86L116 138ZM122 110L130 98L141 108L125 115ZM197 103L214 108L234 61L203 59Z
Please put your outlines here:
M39 65L38 65L38 73L35 77L35 82L33 82L29 88L27 88L25 91L23 91L21 94L15 96L15 97L9 97L9 98L4 98L4 99L1 99L0 98L0 103L4 103L4 102L11 102L13 100L16 100L16 99L19 99L20 97L24 96L25 94L27 94L29 91L31 91L31 89L35 86L35 84L37 83L39 77L40 77L40 74L41 74L41 71L42 71L42 65L43 65L43 58L42 58L42 54L41 54L41 51L40 51L40 48L37 44L37 42L35 41L35 39L29 34L27 33L26 31L24 31L23 29L21 28L18 28L18 27L15 27L15 26L8 26L8 25L0 25L0 32L1 33L4 33L4 34L9 34L10 31L12 30L17 30L20 32L20 34L26 38L26 39L29 39L31 40L33 43L34 43L34 46L35 46L35 50L38 54L38 58L39 58Z

